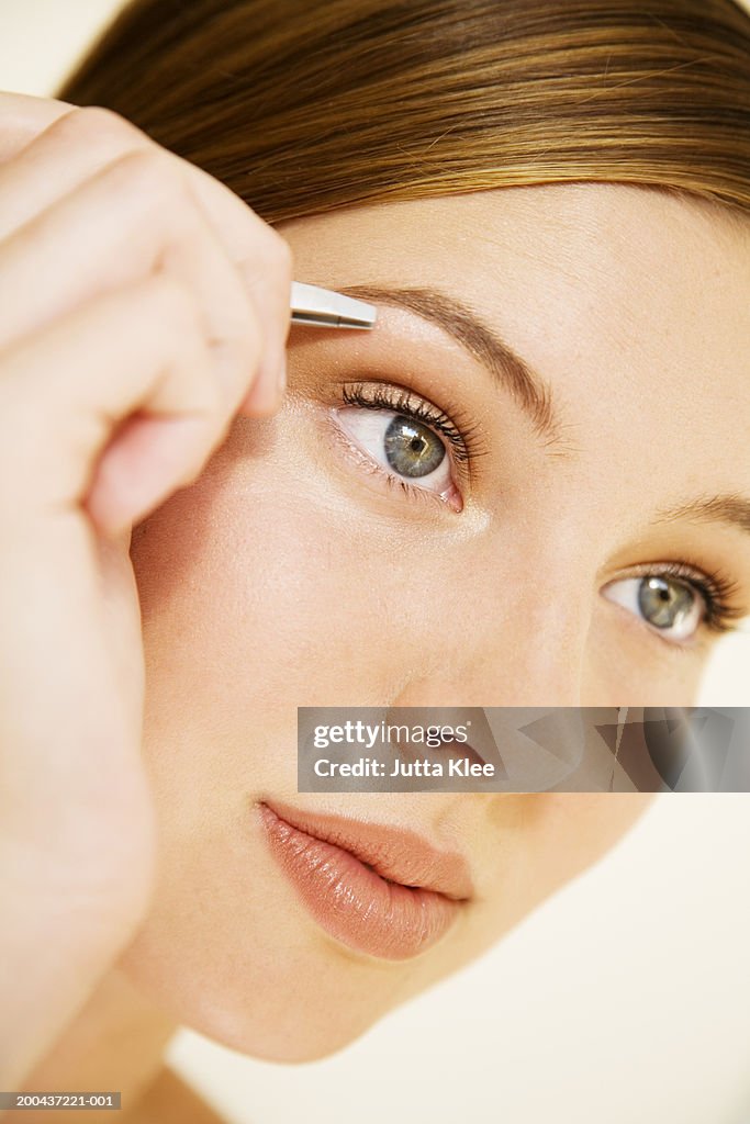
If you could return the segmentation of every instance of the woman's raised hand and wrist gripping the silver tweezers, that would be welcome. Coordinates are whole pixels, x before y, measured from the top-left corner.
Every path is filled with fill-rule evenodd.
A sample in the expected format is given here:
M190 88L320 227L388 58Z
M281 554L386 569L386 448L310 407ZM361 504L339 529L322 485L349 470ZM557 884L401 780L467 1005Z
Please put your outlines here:
M0 1086L147 908L130 529L283 389L291 255L102 109L0 94Z

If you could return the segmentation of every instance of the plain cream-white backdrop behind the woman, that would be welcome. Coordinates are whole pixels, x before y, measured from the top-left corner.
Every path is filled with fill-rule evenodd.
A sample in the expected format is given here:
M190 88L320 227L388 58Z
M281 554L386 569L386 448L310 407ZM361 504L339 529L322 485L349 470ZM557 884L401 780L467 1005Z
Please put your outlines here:
M116 7L0 0L0 89L48 94ZM750 704L749 672L750 636L722 641L701 701ZM188 1031L170 1057L237 1124L750 1124L748 950L750 796L661 796L496 950L335 1058L280 1067Z

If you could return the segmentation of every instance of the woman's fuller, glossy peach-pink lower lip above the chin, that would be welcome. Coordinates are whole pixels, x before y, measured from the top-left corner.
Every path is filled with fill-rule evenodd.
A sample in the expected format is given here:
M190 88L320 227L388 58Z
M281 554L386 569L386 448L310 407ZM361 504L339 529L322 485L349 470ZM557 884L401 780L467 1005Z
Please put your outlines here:
M383 960L410 960L451 927L461 904L381 878L355 855L292 827L261 806L271 851L317 923L343 944Z

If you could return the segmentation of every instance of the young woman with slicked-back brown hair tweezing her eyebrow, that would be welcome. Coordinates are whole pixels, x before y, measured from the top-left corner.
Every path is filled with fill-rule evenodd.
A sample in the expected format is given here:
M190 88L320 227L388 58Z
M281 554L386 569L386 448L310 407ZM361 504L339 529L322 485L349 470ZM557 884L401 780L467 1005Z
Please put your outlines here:
M730 0L138 0L0 101L3 1088L200 1120L179 1023L335 1050L643 810L302 796L297 707L695 700L750 611L749 61Z

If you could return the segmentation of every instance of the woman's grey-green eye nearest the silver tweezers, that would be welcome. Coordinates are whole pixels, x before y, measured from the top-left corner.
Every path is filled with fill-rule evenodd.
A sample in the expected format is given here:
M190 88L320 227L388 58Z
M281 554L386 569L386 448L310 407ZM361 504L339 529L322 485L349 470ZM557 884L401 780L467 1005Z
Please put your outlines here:
M388 475L409 489L432 492L460 510L451 455L431 425L401 410L364 400L335 413L347 437Z

